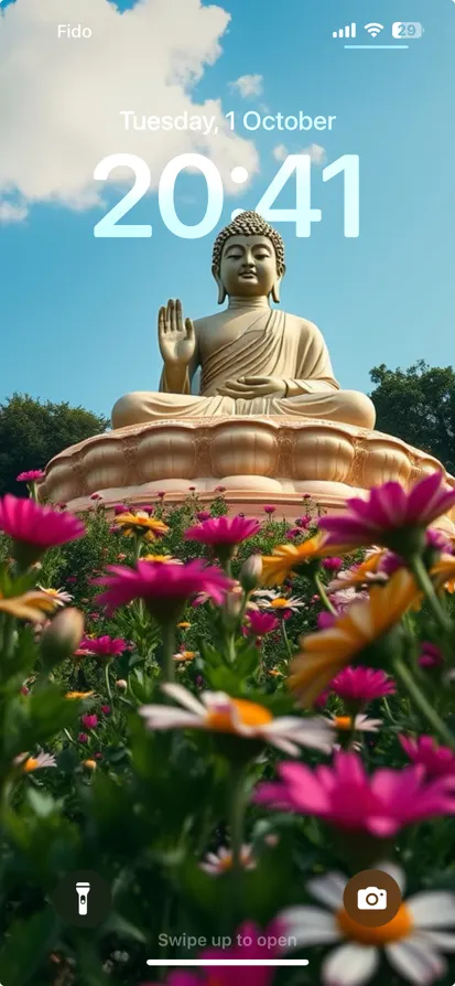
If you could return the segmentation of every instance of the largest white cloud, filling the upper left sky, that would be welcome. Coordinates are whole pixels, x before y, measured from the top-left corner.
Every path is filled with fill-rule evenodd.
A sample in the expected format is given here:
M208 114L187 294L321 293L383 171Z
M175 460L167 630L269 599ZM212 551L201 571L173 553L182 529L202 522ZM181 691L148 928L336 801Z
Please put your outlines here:
M258 171L254 144L231 132L219 98L197 101L193 94L221 54L229 19L220 7L202 7L199 0L141 0L122 14L108 0L20 0L6 8L0 30L3 221L23 218L33 202L78 210L101 204L104 184L94 182L93 173L102 158L117 152L147 161L152 189L173 157L201 152L218 167L225 189L238 192L230 172L239 161L250 175ZM58 39L57 25L66 23L90 28L91 37ZM121 110L214 116L218 132L127 132ZM131 185L129 171L115 174L116 186ZM18 196L21 206L14 205Z

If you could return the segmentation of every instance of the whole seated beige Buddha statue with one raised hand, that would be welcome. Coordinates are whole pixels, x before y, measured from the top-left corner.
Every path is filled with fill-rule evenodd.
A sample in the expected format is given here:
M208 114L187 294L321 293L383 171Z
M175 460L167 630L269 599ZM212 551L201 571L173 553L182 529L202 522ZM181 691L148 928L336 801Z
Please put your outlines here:
M137 390L112 409L112 428L170 418L286 416L375 427L371 400L340 390L324 339L280 302L284 244L258 213L243 212L217 236L212 272L221 312L184 319L178 300L158 317L159 392ZM201 394L192 384L202 368Z

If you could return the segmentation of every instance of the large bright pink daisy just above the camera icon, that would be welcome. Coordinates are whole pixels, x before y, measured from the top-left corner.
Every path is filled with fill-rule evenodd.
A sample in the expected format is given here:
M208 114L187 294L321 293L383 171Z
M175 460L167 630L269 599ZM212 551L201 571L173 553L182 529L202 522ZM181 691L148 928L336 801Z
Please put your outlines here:
M447 778L426 780L420 765L366 773L360 757L338 751L333 767L278 765L280 781L260 784L254 801L278 811L315 815L337 828L394 836L405 825L455 814Z

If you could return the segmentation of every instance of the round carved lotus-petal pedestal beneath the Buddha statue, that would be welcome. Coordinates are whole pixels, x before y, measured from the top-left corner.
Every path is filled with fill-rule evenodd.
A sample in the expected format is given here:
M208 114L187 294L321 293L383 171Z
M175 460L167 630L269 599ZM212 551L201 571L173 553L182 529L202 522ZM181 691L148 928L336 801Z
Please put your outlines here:
M387 480L408 489L441 463L379 431L317 419L226 417L169 419L119 428L72 446L46 468L41 496L73 511L93 508L93 493L107 506L145 503L159 491L182 501L196 489L210 501L217 486L237 511L260 514L273 503L278 516L302 513L310 493L322 507L344 508ZM440 526L455 533L455 508Z

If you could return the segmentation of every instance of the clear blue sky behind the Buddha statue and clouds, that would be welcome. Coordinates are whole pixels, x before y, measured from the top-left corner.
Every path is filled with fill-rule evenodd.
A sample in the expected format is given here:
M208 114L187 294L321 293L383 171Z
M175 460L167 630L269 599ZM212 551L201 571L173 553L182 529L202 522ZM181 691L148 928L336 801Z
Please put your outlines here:
M25 7L28 2L4 6L0 56L9 19L12 24L21 3ZM65 0L66 7L71 2ZM104 2L91 0L94 7ZM155 2L160 6L159 0L142 0L142 6L152 9ZM172 6L183 9L186 2L173 0ZM230 14L230 22L219 39L219 56L203 66L195 85L185 83L196 104L220 99L224 112L234 109L242 114L267 106L271 114L302 109L311 116L337 117L332 133L239 131L239 137L253 141L260 168L245 192L226 197L219 225L229 221L236 205L256 206L280 167L273 156L278 144L285 143L291 153L314 142L322 144L328 162L344 153L359 154L358 239L343 236L340 179L323 185L322 169L316 165L312 204L323 208L323 222L313 226L310 239L297 239L291 223L277 224L286 244L282 307L319 325L335 375L346 388L368 389L368 372L379 363L404 367L423 357L432 365L449 364L455 321L455 3L281 0L275 6L263 0L219 0L218 6ZM73 10L72 22L79 22L76 0ZM134 15L134 11L126 13L120 20L127 28L127 18ZM343 42L332 37L333 30L353 20L359 25L379 21L386 25L380 36L384 43L392 21L400 19L419 20L425 26L423 39L411 41L409 51L345 51ZM25 37L26 25L21 26L19 19L17 31L22 30ZM41 43L42 33L36 29L37 52ZM73 61L80 58L75 72L83 79L87 74L84 45L90 42L58 42L61 46L64 43L72 45ZM127 52L128 57L133 58L133 53ZM1 58L3 94L21 89L20 76L6 77L9 66L11 74L13 68L17 72L12 61ZM35 71L41 71L39 57ZM122 71L121 62L118 71ZM61 79L58 74L53 78L52 63L47 73L54 125L46 147L50 158L58 160L63 136L66 146L74 138L75 154L84 144L84 115L77 117L77 130L72 130L63 90L59 128L55 99ZM262 93L242 98L232 89L230 83L246 74L262 76ZM145 94L143 104L150 114L154 111L153 86L151 77L150 95ZM77 92L77 77L75 88ZM9 93L3 95L7 108L9 99ZM89 100L84 106L88 120ZM156 313L169 297L180 297L185 314L192 318L216 310L210 275L216 231L198 240L175 237L159 216L154 193L128 217L129 222L151 222L151 239L96 239L93 228L106 207L87 207L89 199L78 202L78 208L68 205L64 196L58 203L50 202L44 193L40 199L35 183L26 201L24 189L32 187L33 179L24 171L29 161L33 170L36 133L32 135L25 107L23 104L21 110L19 97L13 100L13 124L0 110L0 126L7 119L7 133L13 132L18 140L17 172L14 161L3 176L0 167L0 203L1 192L13 201L17 173L26 212L22 219L18 213L15 222L0 225L0 401L14 390L28 392L108 415L121 394L156 388L161 368ZM136 107L107 103L106 112L124 108ZM115 142L110 137L104 152L127 150L124 138L118 127ZM241 158L240 142L239 154ZM98 160L99 154L87 167L93 171ZM44 175L43 187L45 184ZM293 194L291 181L277 204L292 206ZM113 189L105 195L111 205L119 197ZM198 222L205 201L204 183L197 175L180 180L176 202L183 221Z

